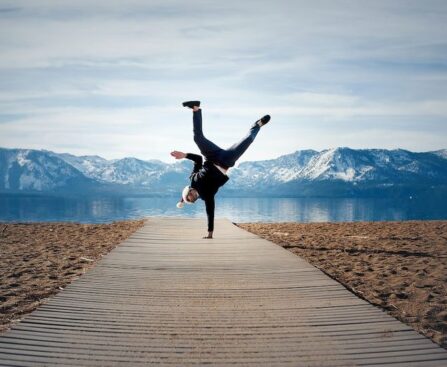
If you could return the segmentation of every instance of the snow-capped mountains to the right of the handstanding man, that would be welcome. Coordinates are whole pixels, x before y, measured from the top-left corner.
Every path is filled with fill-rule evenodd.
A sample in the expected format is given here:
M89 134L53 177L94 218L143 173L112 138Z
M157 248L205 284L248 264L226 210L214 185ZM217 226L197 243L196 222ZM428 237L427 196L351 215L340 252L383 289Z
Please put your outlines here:
M299 180L352 183L429 180L442 183L447 182L446 153L446 150L413 153L402 149L303 150L273 160L242 163L233 182L241 186Z

